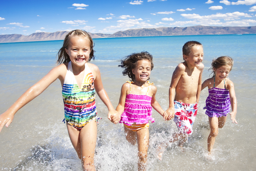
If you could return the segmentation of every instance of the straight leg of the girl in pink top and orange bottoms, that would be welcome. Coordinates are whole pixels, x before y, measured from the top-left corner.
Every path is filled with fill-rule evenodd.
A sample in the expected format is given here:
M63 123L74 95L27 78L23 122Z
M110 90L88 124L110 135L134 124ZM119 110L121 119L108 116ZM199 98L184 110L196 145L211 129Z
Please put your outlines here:
M147 127L137 131L138 159L139 159L138 170L146 170L147 149L148 149L149 138L150 138L150 133Z

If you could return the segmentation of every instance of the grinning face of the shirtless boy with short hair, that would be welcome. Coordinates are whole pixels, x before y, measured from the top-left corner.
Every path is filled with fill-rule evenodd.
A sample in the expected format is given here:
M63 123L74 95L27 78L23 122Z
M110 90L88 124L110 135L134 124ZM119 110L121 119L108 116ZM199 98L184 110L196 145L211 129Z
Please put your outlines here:
M200 63L203 60L204 51L202 46L195 45L191 47L190 53L187 55L183 55L186 63L191 67L199 67Z

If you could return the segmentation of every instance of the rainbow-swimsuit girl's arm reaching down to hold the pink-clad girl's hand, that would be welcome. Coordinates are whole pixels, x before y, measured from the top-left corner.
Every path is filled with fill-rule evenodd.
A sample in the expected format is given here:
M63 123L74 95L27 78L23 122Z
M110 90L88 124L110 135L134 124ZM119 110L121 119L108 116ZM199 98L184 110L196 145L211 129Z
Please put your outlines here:
M89 64L89 63L88 63ZM100 76L100 71L99 68L95 65L93 65L92 63L89 64L90 69L93 71L93 77L94 77L94 87L95 90L99 96L99 98L101 99L101 101L106 105L106 107L109 110L108 113L108 119L113 122L113 123L117 123L118 120L118 113L117 111L114 109L110 98L108 96L108 94L106 93L102 81L101 81L101 76Z

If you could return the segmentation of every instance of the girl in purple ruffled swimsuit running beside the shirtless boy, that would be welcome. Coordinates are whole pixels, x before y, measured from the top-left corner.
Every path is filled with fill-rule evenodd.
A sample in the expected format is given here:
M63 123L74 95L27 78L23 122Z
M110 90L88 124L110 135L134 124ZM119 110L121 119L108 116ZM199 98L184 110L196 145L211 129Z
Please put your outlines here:
M233 67L233 59L228 56L221 56L212 60L212 78L205 80L202 89L208 87L209 96L206 99L205 114L208 115L210 134L207 139L208 155L211 156L212 147L218 135L218 129L226 122L227 114L230 114L233 123L236 121L237 98L234 92L233 82L227 78ZM230 105L232 112L230 112Z

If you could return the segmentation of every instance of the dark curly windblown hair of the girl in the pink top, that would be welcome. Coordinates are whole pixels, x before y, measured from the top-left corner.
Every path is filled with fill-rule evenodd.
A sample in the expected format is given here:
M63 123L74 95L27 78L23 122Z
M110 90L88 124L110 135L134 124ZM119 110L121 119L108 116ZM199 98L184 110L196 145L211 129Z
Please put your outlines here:
M121 65L118 67L124 68L123 70L123 76L128 75L130 78L130 81L135 81L135 75L133 74L133 69L137 65L138 60L147 59L151 62L151 70L154 68L153 64L153 56L148 52L140 52L140 53L133 53L131 55L128 55L124 57L123 60L121 60ZM150 79L150 78L148 78Z

